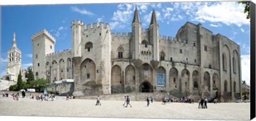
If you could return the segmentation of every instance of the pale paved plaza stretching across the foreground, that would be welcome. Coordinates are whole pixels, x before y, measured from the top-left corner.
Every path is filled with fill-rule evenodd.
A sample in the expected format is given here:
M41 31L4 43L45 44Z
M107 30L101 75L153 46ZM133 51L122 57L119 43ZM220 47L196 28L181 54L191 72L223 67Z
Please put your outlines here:
M207 103L207 109L198 109L198 103L167 103L133 101L132 107L123 106L124 101L95 100L56 97L54 101L36 101L12 97L0 98L1 116L60 116L60 117L116 117L116 118L155 118L155 119L214 119L250 120L250 103Z

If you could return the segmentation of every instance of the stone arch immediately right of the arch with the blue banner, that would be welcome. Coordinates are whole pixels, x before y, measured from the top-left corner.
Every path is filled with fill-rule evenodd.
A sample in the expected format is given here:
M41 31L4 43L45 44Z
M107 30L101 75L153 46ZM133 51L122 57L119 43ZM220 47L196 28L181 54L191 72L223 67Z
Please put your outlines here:
M172 67L170 70L170 89L175 89L178 88L179 85L179 75L178 75L178 70L175 67Z

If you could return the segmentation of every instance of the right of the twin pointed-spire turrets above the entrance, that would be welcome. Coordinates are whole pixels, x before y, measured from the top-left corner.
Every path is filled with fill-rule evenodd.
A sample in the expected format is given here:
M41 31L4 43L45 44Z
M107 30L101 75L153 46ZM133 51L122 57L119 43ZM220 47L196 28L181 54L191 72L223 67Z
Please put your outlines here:
M153 9L151 15L151 21L149 25L149 42L153 44L154 58L153 60L159 60L159 44L158 44L159 27L157 24L155 9Z

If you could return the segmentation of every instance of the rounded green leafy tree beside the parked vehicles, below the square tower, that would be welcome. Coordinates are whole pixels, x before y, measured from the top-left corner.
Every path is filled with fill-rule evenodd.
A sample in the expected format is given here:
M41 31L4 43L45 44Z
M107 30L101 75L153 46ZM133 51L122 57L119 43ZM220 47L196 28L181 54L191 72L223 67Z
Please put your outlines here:
M31 88L36 89L38 92L44 91L47 87L48 80L38 79L30 82Z

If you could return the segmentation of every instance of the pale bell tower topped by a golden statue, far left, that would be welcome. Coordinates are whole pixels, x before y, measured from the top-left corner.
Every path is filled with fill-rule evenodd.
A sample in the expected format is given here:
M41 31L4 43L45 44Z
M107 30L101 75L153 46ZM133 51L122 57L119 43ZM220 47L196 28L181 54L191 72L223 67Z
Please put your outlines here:
M5 66L5 80L15 81L18 80L18 75L23 72L21 68L21 51L17 48L15 40L15 33L13 33L12 47L7 51L8 63ZM25 81L25 76L22 75L22 80Z

